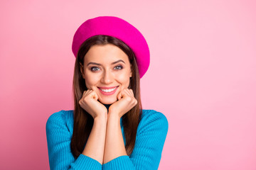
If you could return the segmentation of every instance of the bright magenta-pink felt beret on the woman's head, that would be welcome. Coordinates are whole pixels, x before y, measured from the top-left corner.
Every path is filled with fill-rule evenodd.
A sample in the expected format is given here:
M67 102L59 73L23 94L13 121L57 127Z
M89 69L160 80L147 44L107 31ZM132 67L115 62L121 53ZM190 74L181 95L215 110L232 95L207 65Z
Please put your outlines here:
M99 16L92 18L78 28L75 32L72 44L72 51L75 57L82 42L95 35L109 35L122 40L134 52L139 68L140 78L149 68L149 46L142 33L127 21L114 16Z

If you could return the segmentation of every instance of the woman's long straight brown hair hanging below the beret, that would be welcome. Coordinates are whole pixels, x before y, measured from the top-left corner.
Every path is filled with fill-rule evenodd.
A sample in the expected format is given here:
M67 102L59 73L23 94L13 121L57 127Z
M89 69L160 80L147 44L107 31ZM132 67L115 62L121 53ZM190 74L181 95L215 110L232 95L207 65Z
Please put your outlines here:
M137 128L142 115L142 102L140 97L139 85L139 70L135 60L134 53L122 40L107 35L95 35L85 40L78 50L78 55L75 60L75 70L73 77L73 97L74 97L74 128L71 139L71 151L73 156L77 158L85 147L85 143L90 135L93 125L92 116L82 109L79 105L80 98L82 98L83 91L87 90L85 86L85 79L82 78L80 72L80 64L84 64L85 54L92 45L106 45L112 44L123 50L129 57L129 62L132 65L132 77L129 82L129 89L134 91L134 97L137 99L137 105L122 116L122 124L124 126L125 149L127 155L132 154L134 149Z

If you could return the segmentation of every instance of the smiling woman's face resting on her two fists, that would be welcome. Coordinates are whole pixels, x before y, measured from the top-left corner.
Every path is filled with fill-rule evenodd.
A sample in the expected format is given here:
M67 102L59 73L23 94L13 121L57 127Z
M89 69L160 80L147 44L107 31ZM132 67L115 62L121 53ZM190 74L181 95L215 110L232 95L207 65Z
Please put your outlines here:
M90 47L81 71L87 89L95 91L103 104L117 101L117 94L128 88L132 77L128 56L112 44Z

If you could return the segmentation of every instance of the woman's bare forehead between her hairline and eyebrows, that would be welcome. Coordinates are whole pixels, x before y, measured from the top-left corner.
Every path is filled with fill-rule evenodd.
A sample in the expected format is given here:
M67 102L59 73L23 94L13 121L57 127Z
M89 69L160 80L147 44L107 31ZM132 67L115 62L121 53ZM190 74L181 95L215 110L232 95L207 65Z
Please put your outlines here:
M112 44L93 45L85 55L86 62L112 63L117 60L124 60L129 63L129 58L119 47Z

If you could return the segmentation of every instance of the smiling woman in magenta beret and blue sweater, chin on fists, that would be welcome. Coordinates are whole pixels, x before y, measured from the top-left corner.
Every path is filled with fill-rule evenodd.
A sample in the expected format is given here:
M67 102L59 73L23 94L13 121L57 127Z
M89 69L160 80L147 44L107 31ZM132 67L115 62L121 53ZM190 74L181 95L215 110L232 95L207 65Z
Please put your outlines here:
M158 169L168 122L142 109L143 35L121 18L92 18L76 31L73 53L74 111L46 123L50 169Z

